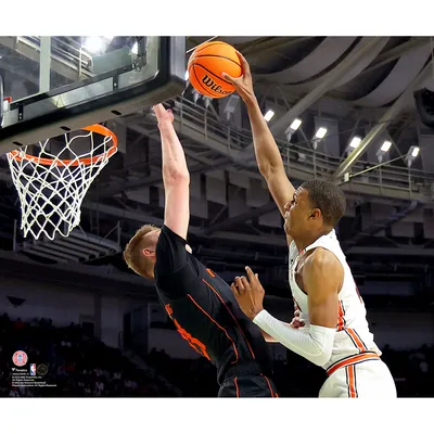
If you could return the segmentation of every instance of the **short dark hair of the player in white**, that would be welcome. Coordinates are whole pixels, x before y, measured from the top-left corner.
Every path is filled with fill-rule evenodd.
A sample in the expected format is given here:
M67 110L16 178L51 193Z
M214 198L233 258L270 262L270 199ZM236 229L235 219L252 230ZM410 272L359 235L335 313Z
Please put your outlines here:
M312 179L301 186L309 193L309 200L314 207L319 208L326 225L335 227L345 214L345 194L333 182L322 179Z

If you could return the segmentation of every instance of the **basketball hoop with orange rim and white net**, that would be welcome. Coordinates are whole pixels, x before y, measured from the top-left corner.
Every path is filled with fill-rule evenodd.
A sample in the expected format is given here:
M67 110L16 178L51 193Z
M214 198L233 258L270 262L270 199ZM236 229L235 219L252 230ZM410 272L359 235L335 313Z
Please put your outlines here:
M68 237L79 225L91 182L117 152L117 137L110 129L91 125L81 130L84 133L65 133L61 140L47 139L7 154L18 192L24 237ZM86 152L74 150L84 145Z

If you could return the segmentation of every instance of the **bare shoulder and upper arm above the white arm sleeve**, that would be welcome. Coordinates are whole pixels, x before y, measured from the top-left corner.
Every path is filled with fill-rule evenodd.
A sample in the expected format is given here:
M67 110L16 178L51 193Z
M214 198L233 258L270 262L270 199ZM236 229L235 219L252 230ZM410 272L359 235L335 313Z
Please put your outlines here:
M330 251L318 247L306 259L303 282L308 293L310 323L335 328L339 317L339 292L344 281L344 268Z

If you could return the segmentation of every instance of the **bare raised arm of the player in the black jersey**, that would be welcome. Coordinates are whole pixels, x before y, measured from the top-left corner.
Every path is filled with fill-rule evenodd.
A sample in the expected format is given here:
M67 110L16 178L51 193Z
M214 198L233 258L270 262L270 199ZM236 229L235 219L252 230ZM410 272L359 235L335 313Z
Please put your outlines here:
M171 111L166 111L163 104L153 108L162 138L164 224L186 240L190 221L190 174L186 155L173 125Z

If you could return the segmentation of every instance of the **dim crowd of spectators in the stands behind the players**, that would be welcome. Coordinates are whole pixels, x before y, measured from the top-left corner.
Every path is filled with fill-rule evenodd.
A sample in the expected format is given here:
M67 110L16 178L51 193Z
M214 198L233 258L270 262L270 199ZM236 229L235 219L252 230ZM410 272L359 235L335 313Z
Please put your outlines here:
M44 381L55 387L12 386L12 354L16 349L27 353L28 363L44 363ZM382 358L395 378L398 396L433 396L434 347L401 350L386 345ZM155 371L137 369L118 349L105 346L74 323L56 329L47 318L26 324L20 318L13 321L0 316L0 396L179 396L161 374L179 387L182 396L217 396L215 369L205 359L174 359L152 348L146 361ZM275 360L275 379L284 397L318 396L324 375L321 368L292 352L286 352L286 359Z

